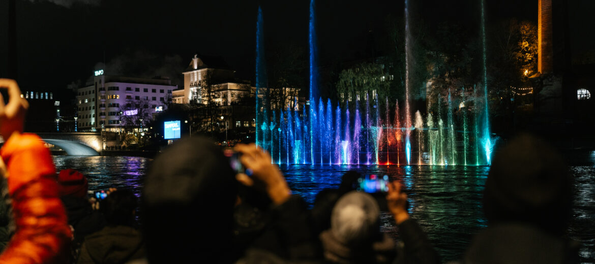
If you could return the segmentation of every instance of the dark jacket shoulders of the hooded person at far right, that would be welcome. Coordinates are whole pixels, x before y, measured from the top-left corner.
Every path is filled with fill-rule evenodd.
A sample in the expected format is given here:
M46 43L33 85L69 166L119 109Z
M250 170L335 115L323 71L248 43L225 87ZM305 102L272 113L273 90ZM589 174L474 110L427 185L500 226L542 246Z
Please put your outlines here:
M578 243L527 224L502 223L481 231L464 263L577 263Z

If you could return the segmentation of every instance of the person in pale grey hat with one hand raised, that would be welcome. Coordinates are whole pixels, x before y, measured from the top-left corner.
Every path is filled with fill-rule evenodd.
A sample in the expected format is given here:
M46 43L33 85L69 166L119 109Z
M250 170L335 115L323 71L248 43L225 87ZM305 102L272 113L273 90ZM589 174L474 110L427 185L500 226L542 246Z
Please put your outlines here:
M331 263L440 263L424 231L407 212L407 194L387 183L387 207L403 243L380 231L380 206L369 193L351 191L333 208L331 225L320 234L324 259Z

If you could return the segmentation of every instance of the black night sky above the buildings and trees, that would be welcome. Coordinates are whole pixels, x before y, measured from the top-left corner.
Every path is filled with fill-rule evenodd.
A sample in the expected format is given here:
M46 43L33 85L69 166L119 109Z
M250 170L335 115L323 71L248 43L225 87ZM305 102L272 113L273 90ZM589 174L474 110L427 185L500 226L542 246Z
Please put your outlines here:
M16 1L18 81L23 90L77 86L98 68L106 74L170 76L179 82L196 52L223 56L239 77L253 80L258 4L264 12L265 48L293 43L306 49L308 42L306 0ZM478 1L410 1L412 17L429 24L479 23ZM592 14L580 11L595 10L593 2L571 4L570 12L578 12L573 21L585 29L595 26ZM490 21L516 17L537 23L537 0L486 0L486 5ZM14 52L7 48L7 10L8 0L0 0L0 77L8 75L7 56ZM319 0L317 12L321 63L349 61L361 56L369 30L381 28L387 16L403 16L403 2ZM585 46L592 43L588 40ZM104 61L107 67L101 65Z

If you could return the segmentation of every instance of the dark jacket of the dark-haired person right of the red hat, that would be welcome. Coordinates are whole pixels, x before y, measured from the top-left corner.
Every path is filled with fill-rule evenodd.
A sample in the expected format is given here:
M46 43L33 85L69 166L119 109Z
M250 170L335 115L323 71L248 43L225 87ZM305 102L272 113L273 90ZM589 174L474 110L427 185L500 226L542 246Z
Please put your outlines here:
M145 257L144 246L140 232L134 228L105 227L84 239L77 263L126 263Z

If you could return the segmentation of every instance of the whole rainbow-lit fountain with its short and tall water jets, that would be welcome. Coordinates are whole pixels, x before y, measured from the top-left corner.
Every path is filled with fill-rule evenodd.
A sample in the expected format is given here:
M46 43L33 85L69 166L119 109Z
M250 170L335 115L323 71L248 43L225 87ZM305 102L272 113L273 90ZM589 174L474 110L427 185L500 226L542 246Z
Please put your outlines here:
M266 70L262 45L263 18L259 9L256 36L256 91L259 95L256 96L256 144L271 153L273 162L322 165L490 164L493 139L490 137L485 84L481 91L475 90L474 99L453 100L450 92L444 99L439 96L435 106L437 111L425 114L425 118L419 111L411 109L408 7L406 0L404 109L400 109L398 101L390 103L389 98L379 98L375 92L358 93L355 100L350 98L346 102L331 102L330 99L317 96L315 2L311 0L308 38L309 103L299 110L286 108L278 112L266 107L267 98L261 92L265 87ZM482 33L485 42L484 29ZM486 80L484 75L484 81ZM457 101L462 100L471 100L466 103L473 107L458 105Z

